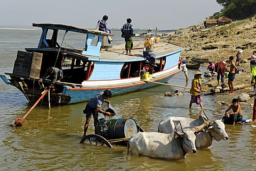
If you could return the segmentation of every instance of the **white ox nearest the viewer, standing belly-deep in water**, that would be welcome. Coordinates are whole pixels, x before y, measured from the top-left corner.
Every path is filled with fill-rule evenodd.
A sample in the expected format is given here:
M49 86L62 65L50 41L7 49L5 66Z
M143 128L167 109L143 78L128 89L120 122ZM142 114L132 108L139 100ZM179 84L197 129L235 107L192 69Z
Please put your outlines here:
M149 156L155 158L185 158L188 152L197 152L195 146L196 135L187 130L184 133L174 131L171 134L158 132L139 132L131 136L128 142L132 155Z

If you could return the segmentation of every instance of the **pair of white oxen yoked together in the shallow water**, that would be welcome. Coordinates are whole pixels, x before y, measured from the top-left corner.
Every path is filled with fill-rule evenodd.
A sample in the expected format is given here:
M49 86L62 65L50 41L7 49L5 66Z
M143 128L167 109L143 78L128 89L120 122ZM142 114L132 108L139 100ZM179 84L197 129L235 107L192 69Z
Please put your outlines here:
M203 110L202 110L203 111ZM158 132L139 132L129 139L132 155L155 158L185 158L196 148L207 148L212 141L227 140L225 124L220 119L210 120L207 115L191 119L168 117L158 125ZM181 126L182 125L182 126Z

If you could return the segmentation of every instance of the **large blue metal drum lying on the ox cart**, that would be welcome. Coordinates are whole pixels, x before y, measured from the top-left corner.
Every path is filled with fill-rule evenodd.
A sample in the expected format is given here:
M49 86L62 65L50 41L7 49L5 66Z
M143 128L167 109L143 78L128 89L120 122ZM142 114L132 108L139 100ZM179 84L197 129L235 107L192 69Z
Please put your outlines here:
M105 119L102 118L99 119L99 123L95 129L96 134L106 139L130 138L130 136L137 132L137 124L131 118L110 119L109 121L105 121Z

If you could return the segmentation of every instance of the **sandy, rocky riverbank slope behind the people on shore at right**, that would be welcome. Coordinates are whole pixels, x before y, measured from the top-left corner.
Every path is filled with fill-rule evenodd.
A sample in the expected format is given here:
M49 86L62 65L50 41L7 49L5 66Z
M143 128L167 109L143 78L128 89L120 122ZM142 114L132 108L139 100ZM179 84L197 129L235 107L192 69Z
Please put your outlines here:
M238 50L243 49L242 59L247 59L252 55L256 48L256 19L246 19L238 22L233 22L221 27L202 29L197 32L190 31L190 28L182 29L185 34L174 35L174 32L169 33L169 36L161 37L161 41L169 42L184 48L181 53L183 59L190 60L192 57L201 57L208 59L213 63L219 61L227 61L229 56L234 56ZM207 66L204 63L201 66ZM251 86L251 70L250 63L241 63L240 66L245 70L241 74L236 74L234 86L245 84L242 89L235 90L234 95L227 95L225 93L217 93L210 95L215 102L223 101L222 104L229 105L233 98L237 98L241 93L253 93ZM210 79L211 80L211 79ZM225 84L228 86L227 79ZM247 86L246 86L247 84ZM210 87L209 87L210 86ZM204 89L209 90L217 86L217 80L204 83ZM242 102L241 106L244 108L251 108L253 98L246 102ZM250 110L250 109L249 109Z

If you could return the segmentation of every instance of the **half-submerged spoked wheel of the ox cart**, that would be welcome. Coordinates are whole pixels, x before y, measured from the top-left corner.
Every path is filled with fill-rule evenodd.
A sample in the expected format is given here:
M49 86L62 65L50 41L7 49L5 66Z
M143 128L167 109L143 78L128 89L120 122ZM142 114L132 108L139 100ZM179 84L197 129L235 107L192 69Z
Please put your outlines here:
M85 140L89 140L91 146L103 146L105 144L107 147L113 148L108 140L97 134L84 136L80 143L83 143Z

